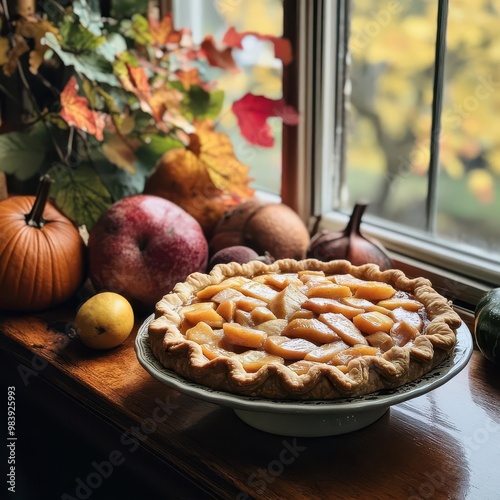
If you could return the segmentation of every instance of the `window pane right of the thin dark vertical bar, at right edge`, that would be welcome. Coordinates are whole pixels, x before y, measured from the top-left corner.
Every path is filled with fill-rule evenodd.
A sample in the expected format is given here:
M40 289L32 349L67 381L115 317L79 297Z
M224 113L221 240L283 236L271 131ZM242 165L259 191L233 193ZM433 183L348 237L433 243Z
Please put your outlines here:
M500 252L500 4L450 2L437 231Z

